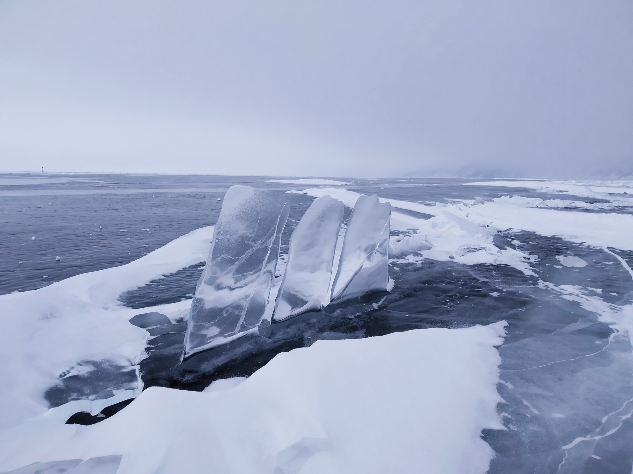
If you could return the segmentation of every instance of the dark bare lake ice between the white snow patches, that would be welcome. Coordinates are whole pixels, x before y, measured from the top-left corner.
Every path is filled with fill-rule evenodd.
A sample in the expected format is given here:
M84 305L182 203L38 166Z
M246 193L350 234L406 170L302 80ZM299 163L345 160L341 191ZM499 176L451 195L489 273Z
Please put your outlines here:
M75 274L125 264L179 235L215 224L221 205L216 198L238 183L277 192L289 200L291 211L281 246L281 252L287 253L292 228L313 199L285 193L303 190L306 185L269 183L270 178L91 179L54 182L44 185L47 188L41 184L9 188L0 181L6 204L0 211L0 245L6 248L0 259L0 275L4 276L1 293L39 288ZM492 200L504 195L608 203L606 198L561 197L560 193L528 188L464 186L468 180L458 179L341 181L354 183L341 186L347 190L418 203L451 204L452 200ZM137 188L142 192L135 192ZM79 194L81 199L77 198ZM605 210L565 210L630 213L630 207L622 205ZM350 211L346 207L344 222ZM432 217L411 210L394 208L395 212L416 219ZM88 226L92 226L92 236L85 235ZM99 226L100 233L94 231ZM403 233L392 231L392 235ZM30 240L32 236L36 240ZM534 275L503 264L463 265L453 259L392 261L392 293L372 293L329 305L322 312L274 323L268 338L246 336L191 356L182 365L185 322L149 312L149 316L132 320L149 332L147 357L140 363L142 380L146 388L201 391L214 380L248 377L277 353L311 346L318 339L470 327L506 320L508 335L499 348L502 383L498 385L505 403L499 404L498 410L507 429L484 430L485 441L496 453L489 472L630 473L633 348L622 324L614 329L609 318L622 316L624 325L633 319L633 279L617 258L630 266L633 252L518 229L501 229L495 235L495 245L537 255L538 260L530 262ZM55 260L56 256L61 260ZM579 264L579 260L586 265ZM196 264L166 274L123 293L119 301L128 308L139 308L136 314L142 315L147 313L142 308L191 298L200 268L201 264ZM42 279L43 275L48 278ZM92 364L93 370L88 373L101 380L107 390L108 371L116 372L116 368L101 367L94 360L85 363ZM84 388L80 375L66 377L63 384L51 387L47 398L51 406L56 406L80 396ZM104 415L111 415L106 410ZM77 416L76 421L87 424L106 416L86 414L83 419Z

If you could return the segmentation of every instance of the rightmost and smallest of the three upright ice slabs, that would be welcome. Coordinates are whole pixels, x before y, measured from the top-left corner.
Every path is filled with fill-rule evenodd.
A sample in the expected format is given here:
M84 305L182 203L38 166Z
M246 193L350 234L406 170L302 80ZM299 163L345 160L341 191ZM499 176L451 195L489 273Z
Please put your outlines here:
M381 204L375 194L358 198L345 232L332 301L387 289L390 222L391 204Z

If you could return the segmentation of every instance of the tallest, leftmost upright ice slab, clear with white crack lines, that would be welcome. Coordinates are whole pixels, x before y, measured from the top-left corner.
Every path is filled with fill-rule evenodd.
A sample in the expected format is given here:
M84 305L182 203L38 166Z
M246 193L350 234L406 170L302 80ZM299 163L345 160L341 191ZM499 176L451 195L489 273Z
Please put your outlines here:
M263 321L289 205L250 186L231 186L197 284L185 334L185 355L237 336Z

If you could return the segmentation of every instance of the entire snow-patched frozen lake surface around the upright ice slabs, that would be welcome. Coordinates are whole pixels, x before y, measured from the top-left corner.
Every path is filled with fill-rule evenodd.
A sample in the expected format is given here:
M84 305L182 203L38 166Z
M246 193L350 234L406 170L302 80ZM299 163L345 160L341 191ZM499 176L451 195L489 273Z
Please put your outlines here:
M289 201L281 262L315 198L390 202L394 287L181 363L236 184ZM632 471L631 182L4 174L0 202L0 472Z

